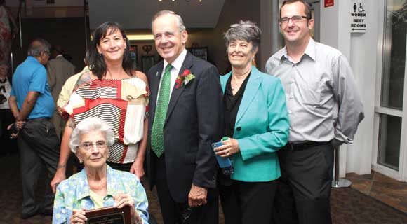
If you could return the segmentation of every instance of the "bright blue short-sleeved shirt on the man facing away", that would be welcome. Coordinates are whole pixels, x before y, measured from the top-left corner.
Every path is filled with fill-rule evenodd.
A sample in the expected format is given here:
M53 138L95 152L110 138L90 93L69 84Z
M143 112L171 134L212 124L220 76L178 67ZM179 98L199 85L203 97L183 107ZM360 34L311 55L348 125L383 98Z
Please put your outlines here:
M19 110L29 91L39 92L39 96L27 119L51 118L55 106L48 87L46 69L32 56L17 66L13 75L11 96L16 98Z

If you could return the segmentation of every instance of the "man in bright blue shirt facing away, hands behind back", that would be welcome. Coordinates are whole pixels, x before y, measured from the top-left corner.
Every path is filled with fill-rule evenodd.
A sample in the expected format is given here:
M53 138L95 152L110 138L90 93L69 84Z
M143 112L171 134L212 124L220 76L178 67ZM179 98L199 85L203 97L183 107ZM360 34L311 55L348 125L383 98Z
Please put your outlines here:
M54 195L49 184L42 204L35 202L34 187L44 165L49 177L54 176L59 159L59 140L50 122L54 111L53 97L47 83L44 65L49 59L49 43L36 39L29 44L28 57L13 75L13 88L8 99L18 133L22 177L21 218L52 214ZM50 183L51 179L48 179Z

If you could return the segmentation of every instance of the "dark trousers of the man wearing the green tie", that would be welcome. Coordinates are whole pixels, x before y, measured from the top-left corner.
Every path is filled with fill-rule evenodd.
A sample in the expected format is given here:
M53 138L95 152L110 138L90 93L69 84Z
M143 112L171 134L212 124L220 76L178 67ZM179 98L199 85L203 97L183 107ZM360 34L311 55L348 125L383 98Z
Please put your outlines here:
M164 223L218 223L218 200L208 200L207 204L194 208L190 208L188 202L175 202L168 189L165 155L161 155L156 160L156 189Z

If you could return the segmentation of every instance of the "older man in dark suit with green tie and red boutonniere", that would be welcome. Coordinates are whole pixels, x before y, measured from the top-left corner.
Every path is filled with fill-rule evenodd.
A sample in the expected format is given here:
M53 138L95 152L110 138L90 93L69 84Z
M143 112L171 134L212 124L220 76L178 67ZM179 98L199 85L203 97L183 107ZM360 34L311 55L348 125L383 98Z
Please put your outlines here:
M148 72L151 186L156 186L164 223L218 223L211 148L222 126L218 70L185 50L188 34L179 15L156 13L152 33L164 61Z

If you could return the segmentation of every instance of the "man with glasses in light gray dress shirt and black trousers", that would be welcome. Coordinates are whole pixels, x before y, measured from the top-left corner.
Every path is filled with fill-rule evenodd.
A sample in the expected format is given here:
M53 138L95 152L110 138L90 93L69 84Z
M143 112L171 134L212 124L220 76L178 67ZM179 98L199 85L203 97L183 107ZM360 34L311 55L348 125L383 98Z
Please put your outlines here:
M314 20L305 1L284 1L279 23L286 46L265 70L283 83L290 136L279 151L274 220L331 223L333 149L352 144L363 105L345 56L309 36Z

